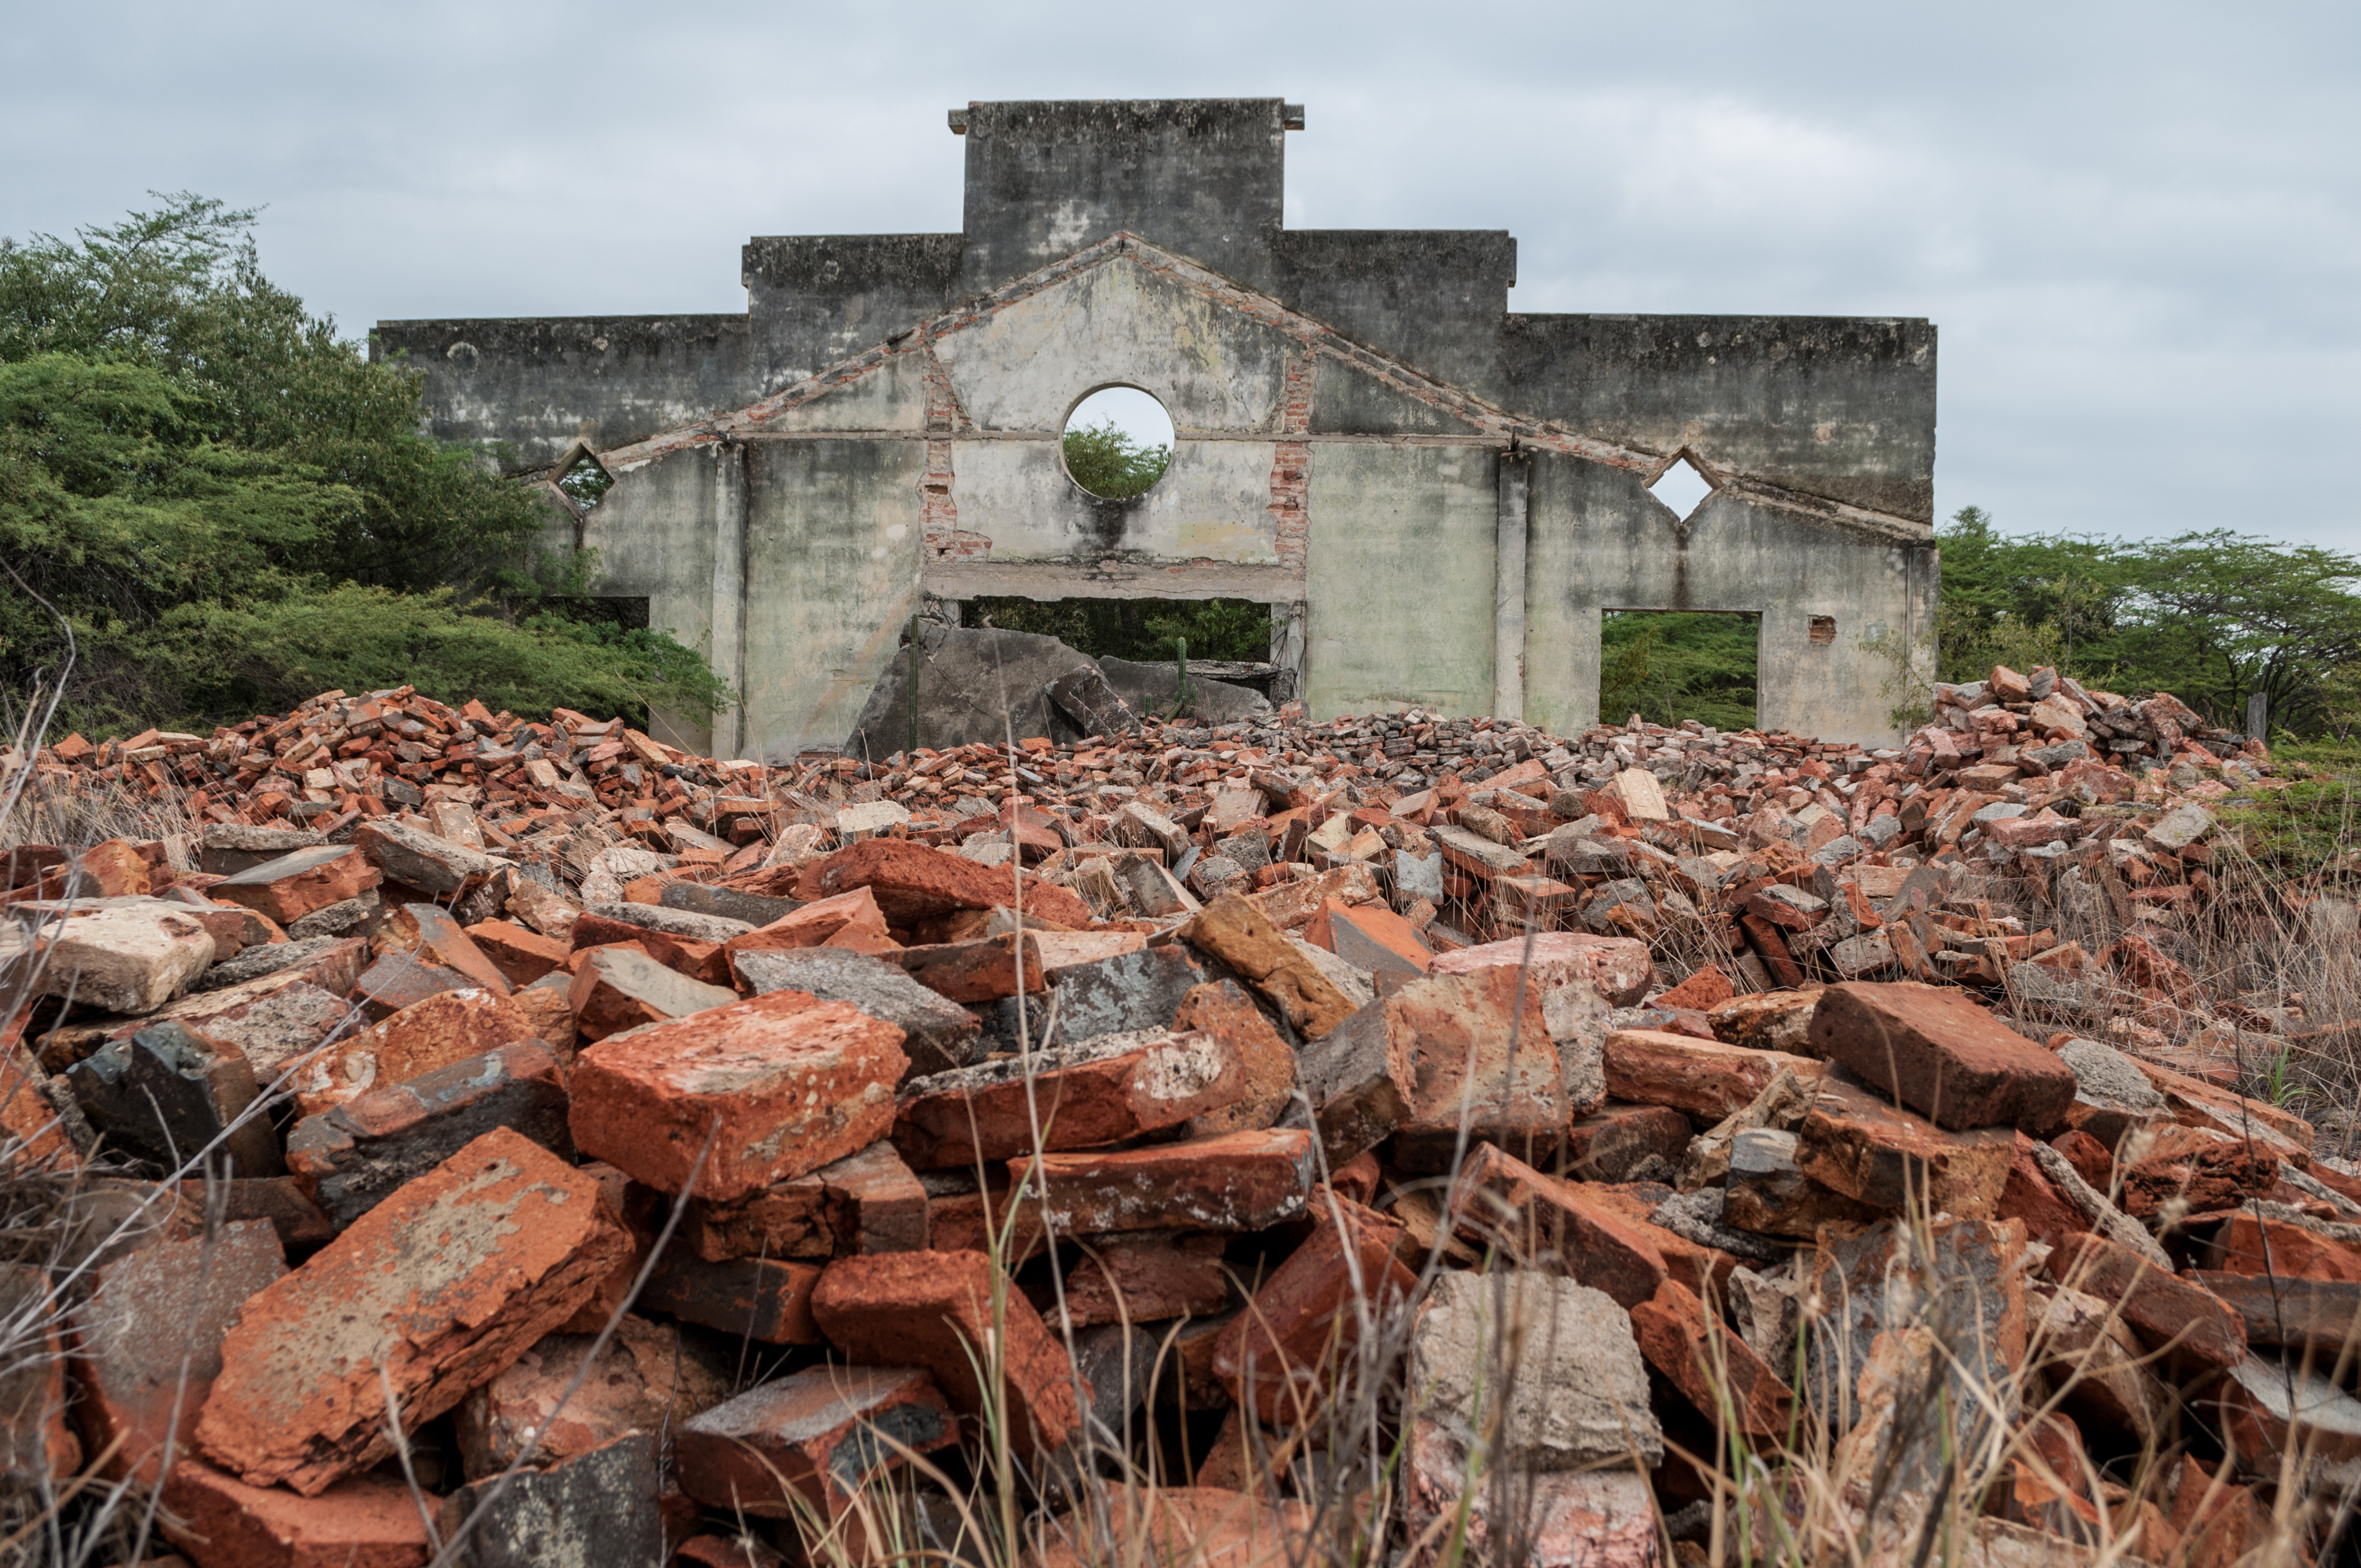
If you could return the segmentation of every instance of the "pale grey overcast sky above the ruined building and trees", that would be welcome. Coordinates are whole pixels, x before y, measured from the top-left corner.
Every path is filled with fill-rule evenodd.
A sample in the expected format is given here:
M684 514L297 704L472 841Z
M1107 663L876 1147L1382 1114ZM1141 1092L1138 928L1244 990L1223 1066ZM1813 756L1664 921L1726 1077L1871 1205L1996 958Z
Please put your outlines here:
M31 5L0 234L194 189L390 316L734 312L949 231L968 99L1287 97L1287 222L1509 229L1511 309L1931 316L1936 503L2361 550L2361 7Z

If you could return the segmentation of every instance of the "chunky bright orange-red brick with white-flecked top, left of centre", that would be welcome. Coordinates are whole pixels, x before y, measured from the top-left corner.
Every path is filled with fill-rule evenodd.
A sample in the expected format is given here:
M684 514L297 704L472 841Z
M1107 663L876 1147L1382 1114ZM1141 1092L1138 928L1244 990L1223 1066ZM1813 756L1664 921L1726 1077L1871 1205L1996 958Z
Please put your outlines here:
M810 992L770 992L604 1039L574 1060L574 1145L663 1193L746 1197L892 1126L902 1030Z

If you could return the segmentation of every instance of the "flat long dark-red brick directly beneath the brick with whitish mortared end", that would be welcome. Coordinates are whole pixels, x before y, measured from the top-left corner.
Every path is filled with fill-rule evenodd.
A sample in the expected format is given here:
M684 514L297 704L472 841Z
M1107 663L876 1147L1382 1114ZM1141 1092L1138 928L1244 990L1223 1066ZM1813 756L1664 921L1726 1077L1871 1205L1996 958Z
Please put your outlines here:
M1008 1162L1022 1181L1027 1159ZM1041 1155L1053 1233L1263 1230L1303 1214L1313 1190L1306 1131L1223 1133L1136 1150Z

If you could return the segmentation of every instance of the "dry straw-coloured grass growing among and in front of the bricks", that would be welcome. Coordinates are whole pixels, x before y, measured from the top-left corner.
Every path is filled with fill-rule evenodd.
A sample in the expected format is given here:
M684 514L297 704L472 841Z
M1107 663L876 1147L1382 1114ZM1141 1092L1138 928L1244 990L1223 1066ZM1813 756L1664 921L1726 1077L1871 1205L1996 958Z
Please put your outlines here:
M19 737L19 756L26 756ZM156 838L187 834L189 822L172 803L156 805L111 793L76 796L38 791L24 779L0 786L0 843L42 841L59 845L92 843L106 836ZM2361 942L2342 926L2323 921L2297 902L2307 888L2285 871L2224 855L2212 869L2217 893L2186 928L2149 928L2160 937L2198 982L2215 997L2241 997L2262 1008L2297 1004L2314 1030L2361 1020ZM2054 921L2061 937L2078 940L2089 952L2104 952L2132 928L2127 907L2097 878L2099 897L2066 909L2054 888L2021 886L2012 893L2028 909ZM1719 937L1705 921L1667 921L1657 933L1657 954L1676 973L1719 952ZM0 973L0 1008L19 1001L33 973ZM2104 1032L2120 1001L2101 1004L2087 1015L2056 1015L2059 1027ZM2016 1001L2019 1015L2040 1013L2030 1001ZM5 1015L5 1013L0 1013ZM2200 1034L2205 1023L2146 1013L2149 1027L2177 1039ZM2245 1039L2234 1051L2255 1056ZM2250 1089L2281 1103L2319 1110L2344 1138L2361 1126L2361 1051L2319 1037L2297 1048L2274 1044L2276 1056L2252 1060ZM1513 1056L1513 1041L1511 1041ZM2248 1056L2241 1056L2245 1063ZM297 1063L300 1067L300 1063ZM267 1115L286 1098L288 1077L264 1096L250 1115ZM17 1082L17 1093L28 1093ZM1039 1105L1034 1110L1039 1126ZM54 1129L54 1117L50 1119ZM42 1138L17 1136L0 1143L0 1263L31 1268L33 1289L19 1289L0 1301L0 1389L19 1389L47 1377L59 1355L59 1334L71 1327L71 1306L87 1280L90 1261L104 1244L130 1237L139 1226L158 1223L153 1204L130 1211L94 1235L78 1209L80 1195L104 1174L104 1167L68 1171L57 1157L35 1152ZM1471 1129L1461 1129L1461 1152ZM1039 1143L1039 1138L1036 1138ZM177 1176L201 1176L210 1150L196 1150ZM1454 1162L1457 1164L1457 1162ZM1325 1176L1325 1171L1322 1171ZM158 1195L163 1190L158 1188ZM1322 1188L1325 1193L1325 1188ZM1440 1209L1454 1211L1459 1178L1440 1181ZM678 1219L678 1207L675 1207ZM975 1563L977 1568L1020 1568L1029 1563L1072 1563L1088 1568L1150 1568L1204 1561L1206 1568L1249 1568L1251 1563L1289 1563L1291 1568L1360 1568L1376 1563L1461 1563L1525 1561L1539 1521L1535 1518L1537 1476L1502 1462L1509 1443L1509 1412L1518 1405L1520 1370L1546 1363L1546 1344L1532 1344L1532 1322L1504 1311L1502 1334L1483 1346L1478 1386L1480 1419L1464 1426L1461 1464L1452 1478L1452 1507L1421 1511L1410 1485L1410 1440L1419 1422L1431 1417L1426 1393L1407 1384L1414 1308L1381 1299L1365 1278L1353 1280L1348 1311L1339 1318L1327 1365L1308 1384L1284 1431L1242 1424L1237 1474L1268 1478L1240 1504L1247 1516L1232 1523L1251 1540L1235 1542L1221 1556L1197 1556L1188 1542L1209 1521L1178 1514L1171 1492L1195 1476L1188 1457L1176 1466L1176 1452L1150 1426L1164 1403L1164 1389L1180 1379L1171 1325L1129 1329L1147 1337L1140 1398L1112 1400L1121 1417L1112 1424L1091 1422L1058 1455L1020 1450L1001 1377L999 1348L1006 1344L1008 1263L1015 1259L1015 1228L1022 1204L1008 1207L1008 1219L994 1237L996 1270L994 1334L973 1346L987 1405L977 1424L980 1443L961 1455L914 1455L892 1436L876 1433L881 1452L900 1464L881 1466L857 1485L852 1507L841 1514L805 1509L793 1523L807 1561L852 1568L855 1563ZM1868 1566L1868 1563L2035 1563L2064 1561L2056 1542L2028 1540L2009 1525L1988 1518L1988 1502L2016 1481L2019 1466L2061 1497L2101 1500L2085 1518L2071 1504L2056 1504L2047 1516L2061 1535L2075 1540L2075 1561L2130 1563L2146 1561L2139 1502L2160 1502L2165 1483L2179 1464L2182 1448L2149 1443L2132 1455L2111 1455L2085 1474L2056 1474L2033 1445L2038 1417L2073 1403L2085 1372L2059 1365L2045 1346L2045 1329L2033 1327L2028 1348L2014 1363L1981 1353L1995 1325L1983 1315L1986 1299L1948 1289L1953 1254L1945 1252L1945 1226L1924 1214L1924 1204L1898 1226L1889 1299L1912 1299L1919 1313L1901 1313L1870 1367L1842 1365L1842 1384L1860 1391L1863 1410L1846 1424L1839 1410L1825 1407L1816 1393L1811 1365L1816 1334L1825 1329L1839 1301L1804 1304L1804 1325L1783 1360L1799 1391L1797 1419L1783 1440L1745 1440L1731 1422L1726 1365L1714 1367L1721 1410L1707 1412L1707 1424L1686 1445L1667 1433L1669 1464L1686 1464L1705 1478L1702 1507L1662 1509L1653 1521L1657 1551L1672 1561L1709 1563L1780 1563L1780 1566ZM1053 1254L1055 1256L1055 1254ZM1806 1249L1809 1256L1809 1249ZM1452 1268L1445 1247L1419 1259L1419 1292ZM1561 1259L1483 1254L1478 1268L1506 1289L1513 1268L1558 1268ZM1062 1273L1053 1268L1053 1292L1062 1301ZM645 1282L645 1275L642 1275ZM1251 1280L1242 1282L1251 1285ZM1251 1296L1249 1296L1251 1299ZM626 1301L628 1308L628 1301ZM607 1334L621 1320L609 1318ZM1249 1308L1251 1311L1251 1308ZM1051 1313L1060 1322L1060 1313ZM1074 1348L1072 1332L1067 1346ZM2149 1358L2163 1365L2163 1358ZM2352 1381L2352 1346L2335 1358L2333 1374ZM1133 1365L1131 1358L1121 1363ZM588 1367L588 1358L586 1358ZM1860 1374L1870 1377L1860 1381ZM581 1379L576 1379L578 1384ZM1088 1391L1077 1374L1077 1400L1088 1407ZM1646 1412L1631 1412L1634 1424ZM1719 1422L1714 1419L1719 1417ZM2205 1452L2217 1452L2205 1433L2191 1433ZM2307 1495L2302 1478L2319 1459L2321 1445L2307 1433L2297 1452L2283 1459L2269 1540L2248 1559L2257 1566L2307 1561L2307 1549L2326 1540L2333 1523L2349 1511L2352 1495ZM524 1459L519 1459L522 1464ZM1627 1459L1624 1469L1636 1466ZM515 1469L515 1466L512 1466ZM1178 1469L1178 1474L1176 1474ZM434 1497L418 1492L432 1516ZM1672 1537L1679 1521L1681 1542ZM158 1533L153 1497L132 1485L104 1485L85 1476L50 1481L17 1471L0 1483L0 1561L83 1568L127 1563L153 1554ZM1251 1528L1249 1528L1251 1525ZM751 1530L760 1535L760 1530ZM1228 1540L1228 1537L1225 1537ZM456 1561L463 1537L437 1544L437 1566ZM1206 1540L1211 1547L1214 1542ZM2231 1561L2222 1556L2217 1561Z

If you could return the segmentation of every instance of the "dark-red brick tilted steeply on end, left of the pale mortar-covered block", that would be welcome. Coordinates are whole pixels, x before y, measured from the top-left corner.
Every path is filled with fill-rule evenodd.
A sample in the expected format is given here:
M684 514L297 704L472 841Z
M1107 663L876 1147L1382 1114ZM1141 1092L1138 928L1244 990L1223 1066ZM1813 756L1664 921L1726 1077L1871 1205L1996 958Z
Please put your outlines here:
M1407 1304L1417 1278L1395 1256L1402 1228L1332 1200L1214 1346L1214 1374L1268 1426L1313 1419L1350 1374L1362 1301L1372 1320ZM1362 1299L1355 1299L1355 1280Z

